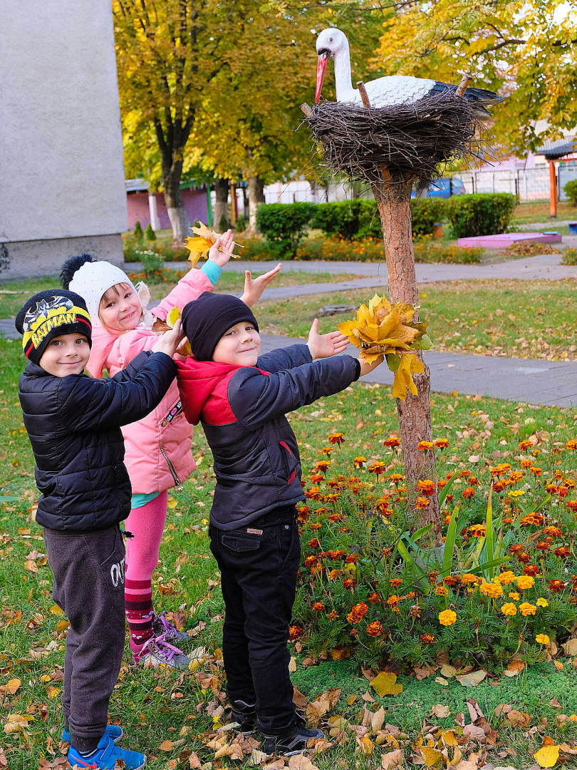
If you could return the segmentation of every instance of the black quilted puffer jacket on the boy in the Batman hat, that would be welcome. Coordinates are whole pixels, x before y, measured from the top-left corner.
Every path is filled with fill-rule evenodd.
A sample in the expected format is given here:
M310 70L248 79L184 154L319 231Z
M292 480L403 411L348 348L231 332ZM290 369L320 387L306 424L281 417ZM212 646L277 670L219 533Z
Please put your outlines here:
M54 377L28 363L18 395L42 493L36 521L52 530L107 529L130 513L121 425L154 409L174 380L165 353L140 353L115 377Z

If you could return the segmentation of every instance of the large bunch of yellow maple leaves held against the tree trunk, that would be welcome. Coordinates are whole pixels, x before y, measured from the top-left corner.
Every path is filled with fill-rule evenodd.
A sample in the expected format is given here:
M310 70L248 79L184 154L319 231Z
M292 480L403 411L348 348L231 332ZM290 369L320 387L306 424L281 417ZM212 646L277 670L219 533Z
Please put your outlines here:
M339 331L361 351L359 358L371 363L379 356L386 357L389 369L395 373L392 394L402 400L407 388L416 396L412 374L424 371L416 351L432 346L426 333L427 322L412 323L416 310L403 302L391 304L385 296L375 294L368 307L359 307L355 320L339 323Z

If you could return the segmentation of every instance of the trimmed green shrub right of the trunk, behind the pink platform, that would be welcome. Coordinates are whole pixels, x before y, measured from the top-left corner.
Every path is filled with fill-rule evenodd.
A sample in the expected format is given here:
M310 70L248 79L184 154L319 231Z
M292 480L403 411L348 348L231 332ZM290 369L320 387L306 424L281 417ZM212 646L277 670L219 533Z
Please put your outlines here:
M454 238L490 236L506 232L517 196L509 192L478 192L449 198L445 205Z

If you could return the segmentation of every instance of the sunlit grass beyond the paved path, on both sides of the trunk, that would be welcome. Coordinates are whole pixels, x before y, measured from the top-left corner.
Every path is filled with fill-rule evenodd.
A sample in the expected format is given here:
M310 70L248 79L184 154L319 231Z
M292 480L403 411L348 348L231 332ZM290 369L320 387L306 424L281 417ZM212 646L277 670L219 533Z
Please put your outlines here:
M451 281L422 284L420 289L433 350L575 360L575 350L570 350L575 347L577 321L572 280ZM258 306L258 321L268 333L306 336L309 318L323 305L358 306L371 296L372 290L364 289L268 300ZM323 318L321 330L334 329L349 317L342 313Z

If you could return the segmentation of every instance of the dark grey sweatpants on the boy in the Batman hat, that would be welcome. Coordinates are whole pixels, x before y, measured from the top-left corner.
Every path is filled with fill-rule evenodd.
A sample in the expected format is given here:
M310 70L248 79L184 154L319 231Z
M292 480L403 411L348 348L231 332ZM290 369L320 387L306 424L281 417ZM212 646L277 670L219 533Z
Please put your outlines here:
M125 641L125 546L118 525L87 534L44 529L52 597L68 616L62 711L71 745L90 752L108 723Z

